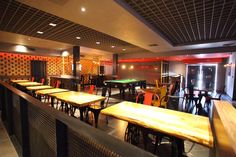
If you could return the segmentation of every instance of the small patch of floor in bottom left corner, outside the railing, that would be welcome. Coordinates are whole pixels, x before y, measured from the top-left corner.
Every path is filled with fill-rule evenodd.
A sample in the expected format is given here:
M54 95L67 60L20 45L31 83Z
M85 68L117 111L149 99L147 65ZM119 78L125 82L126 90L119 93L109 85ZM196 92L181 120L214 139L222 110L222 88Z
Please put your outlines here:
M16 150L0 120L0 157L18 157Z

